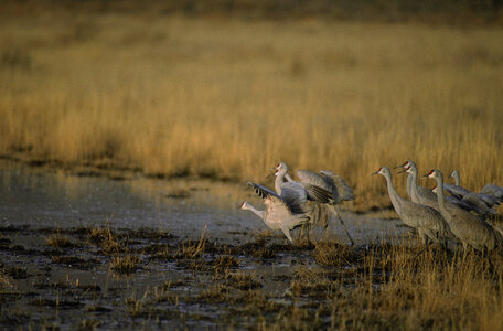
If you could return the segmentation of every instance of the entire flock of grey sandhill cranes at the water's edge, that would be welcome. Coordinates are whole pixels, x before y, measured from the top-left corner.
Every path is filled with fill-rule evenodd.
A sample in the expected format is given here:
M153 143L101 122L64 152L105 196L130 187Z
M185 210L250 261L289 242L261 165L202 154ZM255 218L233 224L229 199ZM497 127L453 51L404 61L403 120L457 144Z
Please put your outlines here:
M503 188L488 184L480 193L470 192L460 185L458 171L450 174L456 184L448 184L443 182L442 173L434 169L422 177L436 180L436 186L429 190L418 185L415 162L409 160L394 169L397 168L402 169L398 173L408 173L407 195L410 200L398 194L388 168L382 167L372 174L386 179L393 207L404 224L417 229L424 244L431 242L447 247L449 241L459 241L464 249L468 246L480 250L503 247L503 218L494 210L503 202ZM290 242L290 231L298 226L327 227L328 215L322 211L329 210L340 220L351 244L354 244L335 209L336 204L354 199L353 191L340 175L328 170L320 173L298 170L296 181L288 174L285 162L278 163L274 170L275 191L248 182L263 197L266 209L257 210L245 201L243 210L254 212L271 229L281 229Z

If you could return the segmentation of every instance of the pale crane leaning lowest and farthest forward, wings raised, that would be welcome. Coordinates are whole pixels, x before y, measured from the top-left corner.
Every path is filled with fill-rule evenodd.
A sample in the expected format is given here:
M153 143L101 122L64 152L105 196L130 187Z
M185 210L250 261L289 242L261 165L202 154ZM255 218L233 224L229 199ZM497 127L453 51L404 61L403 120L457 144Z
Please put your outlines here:
M287 238L292 242L290 231L309 222L308 215L301 212L296 213L298 211L298 205L288 204L289 200L296 200L287 197L287 195L293 196L296 194L295 189L283 190L283 194L280 196L272 190L263 185L252 182L248 182L248 185L253 186L255 192L264 199L266 210L257 210L247 201L243 202L240 209L255 213L258 217L263 218L264 223L271 229L281 229ZM299 191L298 194L302 195L303 192ZM302 200L302 197L300 197L300 200Z

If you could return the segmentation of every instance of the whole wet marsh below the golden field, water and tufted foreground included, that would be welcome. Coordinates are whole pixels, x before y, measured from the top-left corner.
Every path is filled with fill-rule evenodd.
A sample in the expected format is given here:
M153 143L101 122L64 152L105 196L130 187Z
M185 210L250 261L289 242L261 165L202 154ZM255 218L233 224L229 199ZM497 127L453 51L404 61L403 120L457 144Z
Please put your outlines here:
M253 200L246 185L8 164L0 177L4 329L502 325L502 257L492 254L491 265L480 253L421 250L396 220L345 211L356 246L338 224L330 241L291 245L229 202L229 192Z

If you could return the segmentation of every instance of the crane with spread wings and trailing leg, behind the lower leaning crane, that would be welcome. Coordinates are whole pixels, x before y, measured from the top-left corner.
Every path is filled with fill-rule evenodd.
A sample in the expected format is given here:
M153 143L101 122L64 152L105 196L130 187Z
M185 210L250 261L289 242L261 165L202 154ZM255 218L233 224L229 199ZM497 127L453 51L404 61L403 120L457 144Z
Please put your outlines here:
M320 174L309 170L298 170L297 177L300 181L297 182L288 174L287 163L279 162L275 169L275 188L277 192L280 190L280 185L283 183L285 179L287 179L289 183L298 183L304 188L308 197L319 204L327 205L329 210L339 218L347 237L350 238L351 245L354 245L354 241L351 237L344 221L335 210L335 204L342 201L354 200L353 190L351 190L340 175L329 170L321 170ZM324 221L322 225L327 228L327 221Z

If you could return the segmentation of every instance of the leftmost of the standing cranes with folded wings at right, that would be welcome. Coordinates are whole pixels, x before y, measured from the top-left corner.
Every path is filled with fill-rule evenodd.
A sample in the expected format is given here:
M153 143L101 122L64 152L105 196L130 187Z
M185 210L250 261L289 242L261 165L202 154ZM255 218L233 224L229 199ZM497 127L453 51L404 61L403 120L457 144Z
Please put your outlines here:
M372 174L381 174L386 179L393 207L404 224L417 229L425 244L427 244L427 237L434 242L438 242L439 237L452 237L449 227L439 212L430 206L407 201L396 192L393 185L392 172L388 168L381 167L379 170Z

